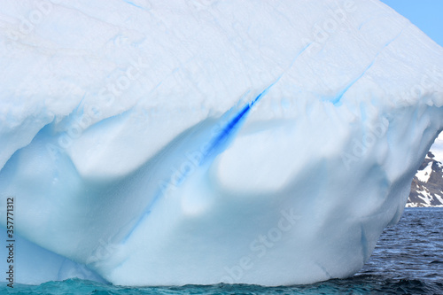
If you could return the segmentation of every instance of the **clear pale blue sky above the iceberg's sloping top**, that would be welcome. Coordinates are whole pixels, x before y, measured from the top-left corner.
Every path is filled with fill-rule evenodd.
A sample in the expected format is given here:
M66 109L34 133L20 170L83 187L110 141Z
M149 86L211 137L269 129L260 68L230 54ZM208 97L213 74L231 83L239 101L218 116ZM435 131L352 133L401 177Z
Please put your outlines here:
M381 0L443 46L443 0Z

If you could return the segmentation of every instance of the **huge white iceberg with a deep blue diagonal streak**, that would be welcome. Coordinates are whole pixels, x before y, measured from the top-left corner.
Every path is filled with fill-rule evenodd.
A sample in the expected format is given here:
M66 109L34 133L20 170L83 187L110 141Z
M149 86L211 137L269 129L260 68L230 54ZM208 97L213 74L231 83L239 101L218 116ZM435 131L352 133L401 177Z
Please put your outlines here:
M443 49L377 0L1 6L6 283L353 276L443 129Z

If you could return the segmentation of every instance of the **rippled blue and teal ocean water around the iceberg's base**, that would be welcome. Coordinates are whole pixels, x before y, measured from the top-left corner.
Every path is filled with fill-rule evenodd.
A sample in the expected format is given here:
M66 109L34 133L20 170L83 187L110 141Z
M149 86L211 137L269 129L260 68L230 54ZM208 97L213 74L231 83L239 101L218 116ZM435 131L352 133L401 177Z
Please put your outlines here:
M289 287L217 284L128 288L82 280L0 284L0 294L443 294L443 208L408 208L368 263L344 280Z

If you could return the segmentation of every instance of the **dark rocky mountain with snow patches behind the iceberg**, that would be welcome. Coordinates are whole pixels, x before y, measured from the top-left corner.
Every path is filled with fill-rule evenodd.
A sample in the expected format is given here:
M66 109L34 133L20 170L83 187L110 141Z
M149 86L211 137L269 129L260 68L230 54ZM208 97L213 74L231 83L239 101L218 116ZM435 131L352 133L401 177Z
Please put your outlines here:
M407 207L443 206L443 136L439 136L411 183Z

